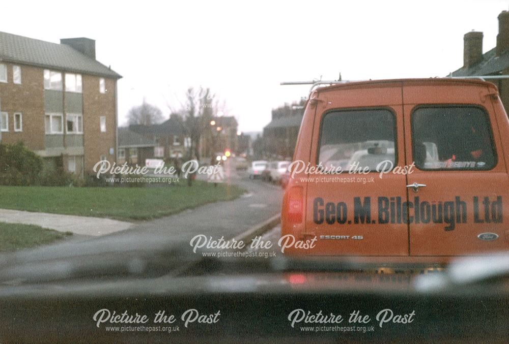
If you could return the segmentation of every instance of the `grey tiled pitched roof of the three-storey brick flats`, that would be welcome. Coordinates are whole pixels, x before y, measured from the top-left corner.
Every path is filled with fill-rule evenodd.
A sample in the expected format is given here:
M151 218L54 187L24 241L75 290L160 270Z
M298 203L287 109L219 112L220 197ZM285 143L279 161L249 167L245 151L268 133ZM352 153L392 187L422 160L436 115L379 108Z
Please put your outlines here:
M51 43L5 32L0 32L1 60L67 72L117 79L122 77L67 44Z

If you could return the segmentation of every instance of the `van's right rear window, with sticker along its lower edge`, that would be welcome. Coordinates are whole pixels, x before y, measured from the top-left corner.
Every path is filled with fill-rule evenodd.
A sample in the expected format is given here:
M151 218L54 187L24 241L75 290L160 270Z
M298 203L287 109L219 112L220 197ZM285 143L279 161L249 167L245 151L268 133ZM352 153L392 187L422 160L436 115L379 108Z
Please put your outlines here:
M418 107L412 145L420 170L488 170L496 163L488 116L474 106Z

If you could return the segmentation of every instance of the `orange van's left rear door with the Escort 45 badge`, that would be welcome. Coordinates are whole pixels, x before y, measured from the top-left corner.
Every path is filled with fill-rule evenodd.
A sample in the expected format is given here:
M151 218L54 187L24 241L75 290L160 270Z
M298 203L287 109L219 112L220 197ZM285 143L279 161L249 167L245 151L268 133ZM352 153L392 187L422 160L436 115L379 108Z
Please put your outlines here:
M375 170L383 161L405 165L401 82L331 87L317 103L310 163L344 172L308 175L305 221L306 234L317 236L313 254L407 256L408 225L394 208L407 201L406 176L380 179ZM359 172L366 167L370 172Z

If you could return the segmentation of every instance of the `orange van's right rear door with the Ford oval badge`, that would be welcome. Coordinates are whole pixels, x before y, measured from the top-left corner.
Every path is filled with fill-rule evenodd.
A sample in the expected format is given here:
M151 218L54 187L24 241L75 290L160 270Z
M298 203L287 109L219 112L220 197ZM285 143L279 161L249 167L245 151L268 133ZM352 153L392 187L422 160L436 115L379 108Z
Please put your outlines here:
M416 165L407 188L412 256L505 248L509 195L493 91L471 81L404 84L406 159Z

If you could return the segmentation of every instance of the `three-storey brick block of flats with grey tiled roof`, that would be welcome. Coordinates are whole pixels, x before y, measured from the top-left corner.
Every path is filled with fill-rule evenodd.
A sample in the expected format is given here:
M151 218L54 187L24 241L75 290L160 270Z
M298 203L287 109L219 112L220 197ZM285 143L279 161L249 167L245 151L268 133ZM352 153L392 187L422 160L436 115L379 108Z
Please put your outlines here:
M0 140L22 141L49 166L78 175L115 162L120 78L96 60L94 40L0 32Z

